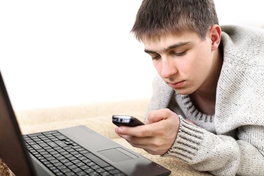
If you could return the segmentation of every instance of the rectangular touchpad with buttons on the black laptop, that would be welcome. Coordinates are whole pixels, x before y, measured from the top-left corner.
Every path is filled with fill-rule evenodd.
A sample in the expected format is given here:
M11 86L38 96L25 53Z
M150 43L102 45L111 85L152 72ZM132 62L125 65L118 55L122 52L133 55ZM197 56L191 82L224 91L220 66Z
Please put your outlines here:
M112 162L121 162L129 159L136 159L138 156L128 152L123 148L111 148L98 151L99 154L111 160Z

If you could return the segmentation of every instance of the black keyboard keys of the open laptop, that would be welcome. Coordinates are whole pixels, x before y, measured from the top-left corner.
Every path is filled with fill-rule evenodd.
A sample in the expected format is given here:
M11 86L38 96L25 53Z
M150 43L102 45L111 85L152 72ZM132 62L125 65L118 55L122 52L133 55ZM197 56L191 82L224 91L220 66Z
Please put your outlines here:
M55 175L125 175L58 131L23 137L29 152Z

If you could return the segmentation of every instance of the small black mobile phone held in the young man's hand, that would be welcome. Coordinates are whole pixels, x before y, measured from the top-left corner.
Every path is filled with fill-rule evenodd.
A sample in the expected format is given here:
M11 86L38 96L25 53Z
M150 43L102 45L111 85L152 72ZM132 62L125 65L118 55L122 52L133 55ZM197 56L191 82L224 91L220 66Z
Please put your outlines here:
M139 125L145 125L143 122L132 116L125 115L113 115L112 122L117 126L129 126L136 127Z

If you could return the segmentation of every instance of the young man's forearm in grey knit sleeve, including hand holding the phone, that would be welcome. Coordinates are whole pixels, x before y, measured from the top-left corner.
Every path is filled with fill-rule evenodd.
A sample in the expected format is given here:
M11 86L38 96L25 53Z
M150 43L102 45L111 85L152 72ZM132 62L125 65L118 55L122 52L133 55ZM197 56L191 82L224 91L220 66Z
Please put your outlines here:
M239 127L235 140L208 132L168 109L151 112L147 120L147 125L119 127L121 131L116 132L134 147L176 156L200 171L225 176L264 175L263 126Z

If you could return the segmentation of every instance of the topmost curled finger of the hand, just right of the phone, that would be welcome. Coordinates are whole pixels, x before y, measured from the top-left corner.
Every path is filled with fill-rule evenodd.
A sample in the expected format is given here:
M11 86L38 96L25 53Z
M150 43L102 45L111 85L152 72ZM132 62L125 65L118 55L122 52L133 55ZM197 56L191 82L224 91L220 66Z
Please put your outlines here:
M172 113L173 112L167 108L156 110L156 111L151 111L147 116L145 124L151 124L151 123L155 123L155 122L167 119Z

